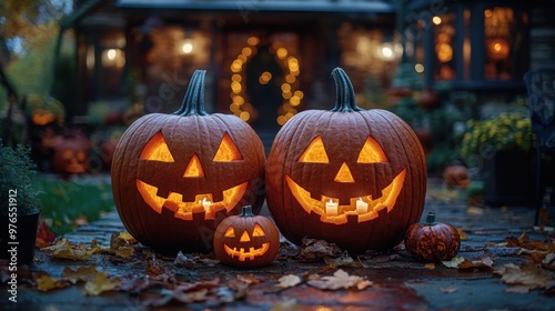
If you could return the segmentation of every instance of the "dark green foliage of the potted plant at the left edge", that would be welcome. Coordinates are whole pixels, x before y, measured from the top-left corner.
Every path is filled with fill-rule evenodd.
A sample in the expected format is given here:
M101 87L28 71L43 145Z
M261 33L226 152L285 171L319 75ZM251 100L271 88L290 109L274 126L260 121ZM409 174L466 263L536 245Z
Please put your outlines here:
M40 210L39 192L32 185L36 164L29 157L30 149L23 146L9 148L0 141L0 202L1 213L8 213L10 191L17 191L18 213L32 213Z

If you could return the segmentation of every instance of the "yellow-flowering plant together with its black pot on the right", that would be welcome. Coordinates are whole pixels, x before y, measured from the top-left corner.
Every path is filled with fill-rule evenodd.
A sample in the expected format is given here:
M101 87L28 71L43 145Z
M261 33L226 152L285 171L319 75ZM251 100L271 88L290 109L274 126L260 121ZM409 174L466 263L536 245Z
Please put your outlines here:
M484 120L470 120L462 157L480 169L484 202L528 204L534 199L534 136L526 107L512 107Z

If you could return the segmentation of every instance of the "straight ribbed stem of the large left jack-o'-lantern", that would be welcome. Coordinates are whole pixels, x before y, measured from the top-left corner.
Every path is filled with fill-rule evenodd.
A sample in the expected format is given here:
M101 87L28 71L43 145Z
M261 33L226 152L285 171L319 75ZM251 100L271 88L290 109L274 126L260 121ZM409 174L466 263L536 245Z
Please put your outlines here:
M209 116L204 110L204 76L206 70L195 70L189 86L181 108L173 112L181 117Z

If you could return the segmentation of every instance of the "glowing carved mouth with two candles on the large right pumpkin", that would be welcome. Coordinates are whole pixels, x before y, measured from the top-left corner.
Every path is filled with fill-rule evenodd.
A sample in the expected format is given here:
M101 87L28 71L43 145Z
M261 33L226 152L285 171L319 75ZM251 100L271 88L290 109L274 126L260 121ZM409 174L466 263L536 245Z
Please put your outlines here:
M397 200L403 188L406 169L400 172L393 181L382 190L382 197L373 200L372 195L351 198L349 205L337 205L336 212L326 213L326 202L339 202L339 199L322 195L321 200L312 199L311 193L293 181L289 175L285 175L293 197L307 212L314 212L320 215L322 222L342 224L347 222L347 215L357 215L359 222L369 221L379 217L377 212L387 209L390 212ZM366 211L356 209L356 201L363 201L367 204Z

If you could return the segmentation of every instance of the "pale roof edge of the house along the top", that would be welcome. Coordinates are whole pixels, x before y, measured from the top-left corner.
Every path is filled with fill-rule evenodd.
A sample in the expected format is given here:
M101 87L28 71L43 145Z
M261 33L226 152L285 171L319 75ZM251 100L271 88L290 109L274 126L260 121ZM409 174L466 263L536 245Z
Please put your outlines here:
M282 11L393 13L394 7L380 0L117 0L119 8L186 9L202 11Z

